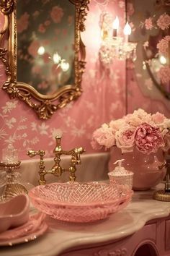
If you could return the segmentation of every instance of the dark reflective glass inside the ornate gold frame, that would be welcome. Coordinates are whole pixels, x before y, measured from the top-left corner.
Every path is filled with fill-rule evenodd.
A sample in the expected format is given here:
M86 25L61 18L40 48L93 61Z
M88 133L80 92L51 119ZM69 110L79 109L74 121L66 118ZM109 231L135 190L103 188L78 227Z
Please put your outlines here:
M17 81L53 94L74 82L75 7L63 0L17 0Z

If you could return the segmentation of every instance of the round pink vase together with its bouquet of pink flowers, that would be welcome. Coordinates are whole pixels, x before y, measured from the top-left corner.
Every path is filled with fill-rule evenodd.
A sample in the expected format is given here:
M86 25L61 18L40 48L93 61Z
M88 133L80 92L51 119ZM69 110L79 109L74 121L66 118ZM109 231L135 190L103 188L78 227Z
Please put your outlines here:
M134 173L133 189L149 189L166 175L164 151L170 148L170 119L138 109L102 124L94 131L91 145L94 149L111 149L109 171L112 163L124 158L122 165Z

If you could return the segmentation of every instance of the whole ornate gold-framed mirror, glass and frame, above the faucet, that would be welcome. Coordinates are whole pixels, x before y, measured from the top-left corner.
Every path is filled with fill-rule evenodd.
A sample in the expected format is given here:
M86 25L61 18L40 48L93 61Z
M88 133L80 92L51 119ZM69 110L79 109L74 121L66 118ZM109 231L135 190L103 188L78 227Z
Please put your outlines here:
M10 98L19 98L40 119L81 95L86 51L81 40L89 0L0 1L9 51L0 48ZM1 37L3 38L3 37ZM2 39L1 42L2 43Z

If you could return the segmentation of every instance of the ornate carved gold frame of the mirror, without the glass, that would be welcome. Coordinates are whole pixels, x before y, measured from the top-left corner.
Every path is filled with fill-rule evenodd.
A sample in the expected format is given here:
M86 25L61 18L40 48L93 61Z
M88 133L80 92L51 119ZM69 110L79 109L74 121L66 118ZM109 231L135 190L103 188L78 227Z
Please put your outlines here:
M2 89L10 98L19 98L33 108L40 119L49 119L58 108L63 108L70 101L81 95L81 77L84 73L86 51L81 40L85 30L84 21L89 0L69 0L75 6L74 40L74 85L64 85L54 94L42 95L35 88L24 82L17 82L17 0L1 0L0 11L4 14L4 28L0 32L0 59L4 64L7 80ZM9 50L3 48L4 36L9 38ZM55 101L53 103L53 101Z

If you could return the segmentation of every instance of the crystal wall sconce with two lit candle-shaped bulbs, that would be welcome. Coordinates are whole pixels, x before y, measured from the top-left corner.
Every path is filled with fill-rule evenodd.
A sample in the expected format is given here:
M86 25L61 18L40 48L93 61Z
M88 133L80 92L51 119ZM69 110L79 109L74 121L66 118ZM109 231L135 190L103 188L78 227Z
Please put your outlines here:
M112 22L112 16L108 12L102 12L100 17L102 43L99 48L99 58L103 64L111 64L114 59L136 59L137 43L128 42L131 27L126 23L124 36L117 36L119 29L118 17Z

